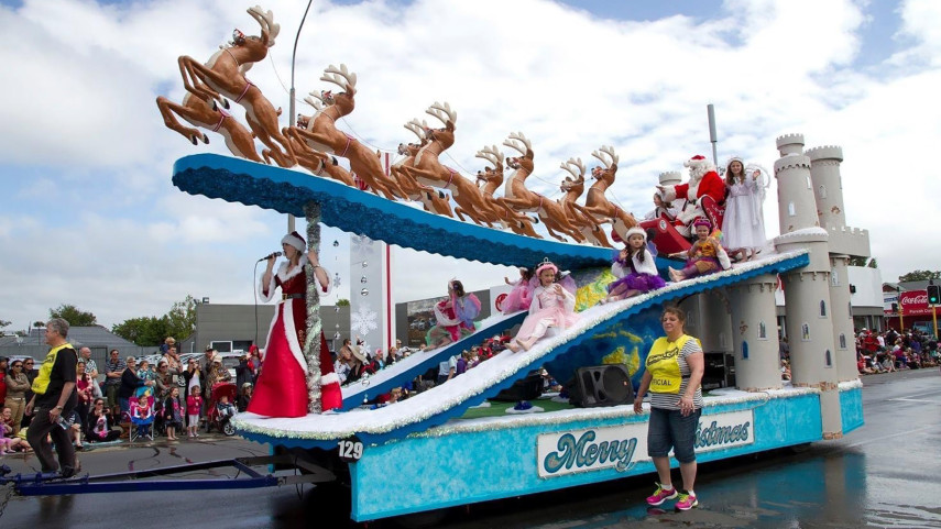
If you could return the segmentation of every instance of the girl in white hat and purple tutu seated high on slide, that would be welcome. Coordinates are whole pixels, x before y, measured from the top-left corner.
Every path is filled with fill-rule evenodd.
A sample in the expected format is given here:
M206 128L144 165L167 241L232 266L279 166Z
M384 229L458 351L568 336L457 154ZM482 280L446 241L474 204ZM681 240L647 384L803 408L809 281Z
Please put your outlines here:
M647 250L647 234L636 225L627 230L627 245L615 257L611 273L619 279L608 286L608 297L602 302L620 301L667 284L657 275L654 256Z

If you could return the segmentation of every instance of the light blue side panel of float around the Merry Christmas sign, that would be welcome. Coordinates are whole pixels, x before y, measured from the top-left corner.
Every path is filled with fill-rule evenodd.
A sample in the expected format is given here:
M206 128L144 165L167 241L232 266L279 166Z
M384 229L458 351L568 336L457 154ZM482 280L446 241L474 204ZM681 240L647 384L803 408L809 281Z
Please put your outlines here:
M729 449L698 451L700 461L821 439L817 395L709 406L700 423L707 429L722 415L736 411L753 414L754 441ZM625 407L624 416L603 420L567 421L562 418L559 422L411 437L368 447L363 458L351 465L352 518L366 521L653 473L655 469L646 453L648 417L634 416ZM626 471L609 467L539 476L541 462L537 460L537 440L540 434L625 426L638 429L635 430L638 432L636 452ZM386 492L393 476L401 486L398 494L390 495Z

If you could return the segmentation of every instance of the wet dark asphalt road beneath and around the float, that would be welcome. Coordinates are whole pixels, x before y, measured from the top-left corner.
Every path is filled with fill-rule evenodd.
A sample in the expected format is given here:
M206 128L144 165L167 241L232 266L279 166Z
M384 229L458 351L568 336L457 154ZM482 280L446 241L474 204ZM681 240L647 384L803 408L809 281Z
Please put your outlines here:
M863 377L866 425L844 439L799 453L779 450L700 465L700 507L649 509L654 476L448 509L444 519L413 524L448 529L696 528L939 528L941 527L941 374L922 370ZM94 474L264 454L237 438L83 453ZM14 472L34 472L35 459L4 458ZM675 471L676 473L676 471ZM193 473L234 477L234 471ZM678 477L678 476L677 476ZM222 477L225 478L225 477ZM390 482L389 494L396 483ZM305 488L309 491L309 486ZM2 497L0 497L2 502ZM336 503L280 487L193 493L124 493L12 497L4 527L340 527L325 511ZM423 519L424 518L424 519ZM370 527L392 527L389 521Z

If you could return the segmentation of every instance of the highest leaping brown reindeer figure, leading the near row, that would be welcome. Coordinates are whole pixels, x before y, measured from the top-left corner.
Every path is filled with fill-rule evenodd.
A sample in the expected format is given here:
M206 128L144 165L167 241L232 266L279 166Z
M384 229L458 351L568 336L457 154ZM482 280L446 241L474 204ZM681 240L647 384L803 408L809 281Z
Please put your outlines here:
M262 95L259 87L245 77L245 71L254 63L267 56L267 48L274 46L281 26L274 23L274 14L271 11L262 11L259 5L250 8L248 13L261 26L261 36L245 35L236 30L231 44L222 46L205 65L187 55L179 57L177 63L183 76L183 87L210 103L214 110L218 108L218 103L229 108L225 98L244 107L252 132L271 151L278 165L291 167L296 165L297 161L278 128L280 111ZM286 155L278 144L287 150Z

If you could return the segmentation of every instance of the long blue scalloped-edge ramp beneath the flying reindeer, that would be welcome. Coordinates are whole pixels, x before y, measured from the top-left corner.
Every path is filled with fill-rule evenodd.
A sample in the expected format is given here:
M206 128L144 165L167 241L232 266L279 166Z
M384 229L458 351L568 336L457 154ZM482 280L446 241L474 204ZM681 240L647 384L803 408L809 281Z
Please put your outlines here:
M259 206L304 217L309 201L320 203L329 227L402 247L481 263L529 266L548 257L561 269L608 266L611 249L533 239L461 222L393 202L339 181L292 169L216 154L176 161L173 184L190 195Z

